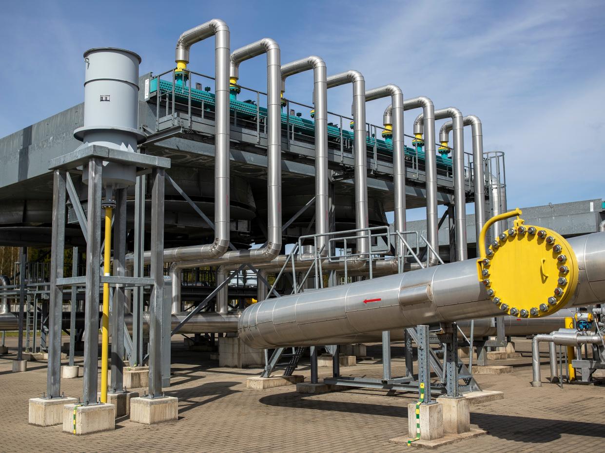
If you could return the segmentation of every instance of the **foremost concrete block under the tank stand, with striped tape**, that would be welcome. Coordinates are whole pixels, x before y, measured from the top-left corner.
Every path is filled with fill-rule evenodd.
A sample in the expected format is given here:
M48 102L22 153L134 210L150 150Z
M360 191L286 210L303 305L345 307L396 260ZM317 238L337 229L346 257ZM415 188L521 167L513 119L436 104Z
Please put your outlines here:
M75 411L75 413L74 413ZM63 406L63 431L72 434L113 431L116 429L116 406L113 404L91 404Z

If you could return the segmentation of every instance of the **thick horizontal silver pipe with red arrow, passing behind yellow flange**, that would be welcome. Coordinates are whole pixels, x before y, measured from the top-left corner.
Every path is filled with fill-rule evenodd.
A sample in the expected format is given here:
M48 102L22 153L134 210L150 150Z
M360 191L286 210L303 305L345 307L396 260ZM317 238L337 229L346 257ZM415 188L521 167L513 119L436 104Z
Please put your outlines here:
M603 303L605 233L568 242L579 275L566 306ZM255 348L338 344L343 337L354 342L352 336L369 332L500 315L477 278L477 261L465 260L267 299L244 310L238 332Z

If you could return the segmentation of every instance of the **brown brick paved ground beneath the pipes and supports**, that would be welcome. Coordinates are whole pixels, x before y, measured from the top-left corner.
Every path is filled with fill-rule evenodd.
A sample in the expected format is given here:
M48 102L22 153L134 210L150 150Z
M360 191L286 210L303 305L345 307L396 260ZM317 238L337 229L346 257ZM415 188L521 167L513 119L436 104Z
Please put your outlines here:
M7 338L9 347L13 338ZM484 390L502 390L505 399L472 407L471 424L488 435L437 451L570 452L603 451L605 388L544 384L532 388L529 343L518 342L524 358L499 361L514 373L481 375ZM14 350L11 350L14 353ZM258 370L218 368L177 352L166 394L179 399L179 420L143 426L119 419L116 431L76 437L60 426L27 424L27 400L45 391L45 362L30 362L27 373L11 373L14 354L0 358L0 451L212 451L212 452L390 452L406 446L388 439L407 431L410 394L348 390L301 396L293 387L247 390ZM494 362L495 363L495 362ZM394 374L403 374L401 359ZM344 373L379 376L373 362L342 368ZM543 366L543 382L548 366ZM353 372L353 370L355 370ZM320 374L329 373L320 368ZM303 374L308 376L307 368ZM82 378L65 379L68 396L82 393Z

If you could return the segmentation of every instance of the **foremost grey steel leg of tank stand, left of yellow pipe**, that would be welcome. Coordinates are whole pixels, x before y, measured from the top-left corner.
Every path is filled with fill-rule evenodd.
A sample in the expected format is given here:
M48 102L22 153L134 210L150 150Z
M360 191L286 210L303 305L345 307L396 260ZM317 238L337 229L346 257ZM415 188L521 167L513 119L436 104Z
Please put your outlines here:
M99 285L101 266L101 159L88 162L88 239L86 241L86 302L84 327L83 403L97 402L99 366ZM109 246L109 245L108 245Z

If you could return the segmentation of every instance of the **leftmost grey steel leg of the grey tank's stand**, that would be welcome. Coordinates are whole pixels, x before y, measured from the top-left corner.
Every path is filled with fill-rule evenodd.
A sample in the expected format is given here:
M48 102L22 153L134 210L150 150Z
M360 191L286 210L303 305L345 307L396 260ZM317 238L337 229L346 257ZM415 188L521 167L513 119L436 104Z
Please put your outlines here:
M65 170L53 174L53 228L50 251L50 301L48 307L48 368L47 397L56 398L61 391L61 332L63 312L63 288L57 286L57 278L63 278L65 257ZM37 313L34 312L34 316ZM36 335L36 332L34 332Z

